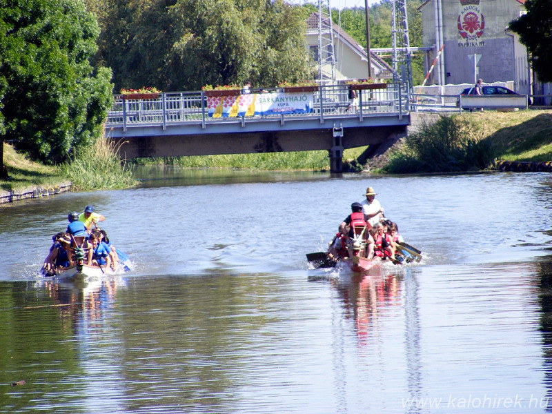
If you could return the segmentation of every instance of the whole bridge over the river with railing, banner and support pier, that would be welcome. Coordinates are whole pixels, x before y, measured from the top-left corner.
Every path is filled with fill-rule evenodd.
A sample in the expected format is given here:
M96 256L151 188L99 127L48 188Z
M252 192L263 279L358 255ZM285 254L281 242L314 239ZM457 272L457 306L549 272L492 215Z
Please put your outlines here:
M353 108L346 85L234 97L117 95L106 135L126 158L328 150L332 172L341 172L344 149L369 146L366 157L373 157L406 135L410 124L406 84L357 92Z

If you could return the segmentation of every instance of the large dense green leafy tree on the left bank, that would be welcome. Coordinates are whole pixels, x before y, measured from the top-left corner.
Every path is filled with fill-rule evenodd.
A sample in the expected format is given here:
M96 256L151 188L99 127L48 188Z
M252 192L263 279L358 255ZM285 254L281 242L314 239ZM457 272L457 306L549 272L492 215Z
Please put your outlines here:
M5 0L0 9L2 140L57 164L99 135L111 73L95 70L95 17L82 0Z

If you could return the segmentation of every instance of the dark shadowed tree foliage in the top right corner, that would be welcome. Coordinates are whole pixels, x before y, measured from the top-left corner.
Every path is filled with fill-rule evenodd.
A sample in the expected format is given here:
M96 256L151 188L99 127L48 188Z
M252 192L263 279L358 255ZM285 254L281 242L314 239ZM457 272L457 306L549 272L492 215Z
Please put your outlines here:
M552 0L528 0L526 14L510 22L531 54L531 63L542 82L552 81Z

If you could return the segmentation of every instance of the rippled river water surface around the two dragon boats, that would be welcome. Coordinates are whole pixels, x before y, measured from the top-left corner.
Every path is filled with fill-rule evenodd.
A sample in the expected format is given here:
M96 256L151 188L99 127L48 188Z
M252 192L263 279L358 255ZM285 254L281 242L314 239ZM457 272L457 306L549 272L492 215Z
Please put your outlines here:
M0 413L552 411L549 173L145 177L0 205ZM367 186L422 262L309 268ZM86 204L132 272L37 277Z

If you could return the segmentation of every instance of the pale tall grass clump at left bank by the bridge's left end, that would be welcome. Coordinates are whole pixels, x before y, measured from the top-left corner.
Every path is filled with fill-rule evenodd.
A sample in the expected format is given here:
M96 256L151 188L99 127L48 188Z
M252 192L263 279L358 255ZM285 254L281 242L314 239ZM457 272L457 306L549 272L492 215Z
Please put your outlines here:
M117 156L119 148L105 137L98 137L94 144L81 148L70 164L61 167L63 175L72 181L76 190L128 188L138 181L132 172L121 164Z

